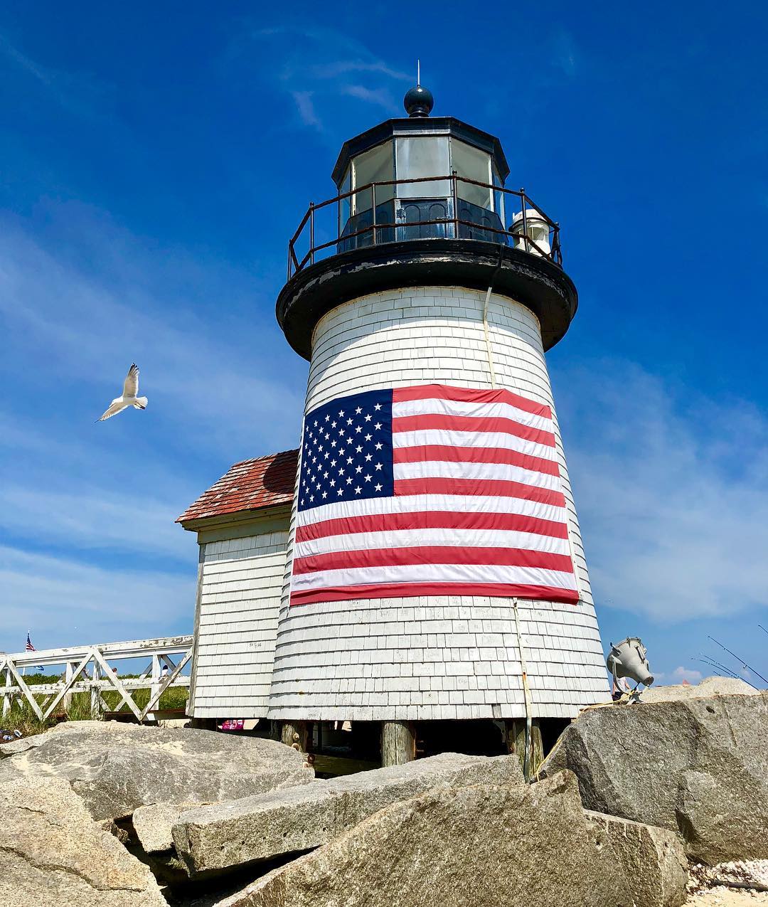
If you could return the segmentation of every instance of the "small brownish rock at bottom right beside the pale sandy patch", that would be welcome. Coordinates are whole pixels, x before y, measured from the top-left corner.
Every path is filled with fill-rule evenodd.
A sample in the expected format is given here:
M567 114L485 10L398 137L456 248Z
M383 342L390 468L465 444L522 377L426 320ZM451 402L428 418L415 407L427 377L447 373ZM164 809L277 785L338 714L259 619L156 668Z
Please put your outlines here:
M688 863L674 832L615 815L585 810L587 822L605 837L617 858L626 892L637 907L679 907L685 903Z

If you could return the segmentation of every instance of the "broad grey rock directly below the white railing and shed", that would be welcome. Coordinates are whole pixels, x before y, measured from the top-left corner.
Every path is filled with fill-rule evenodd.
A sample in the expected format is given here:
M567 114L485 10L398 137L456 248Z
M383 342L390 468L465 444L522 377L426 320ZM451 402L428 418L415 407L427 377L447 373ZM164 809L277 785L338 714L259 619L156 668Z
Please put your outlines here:
M61 777L83 797L94 819L122 818L153 803L213 803L262 794L315 777L290 746L186 727L73 721L24 743L32 746L0 761L0 779Z

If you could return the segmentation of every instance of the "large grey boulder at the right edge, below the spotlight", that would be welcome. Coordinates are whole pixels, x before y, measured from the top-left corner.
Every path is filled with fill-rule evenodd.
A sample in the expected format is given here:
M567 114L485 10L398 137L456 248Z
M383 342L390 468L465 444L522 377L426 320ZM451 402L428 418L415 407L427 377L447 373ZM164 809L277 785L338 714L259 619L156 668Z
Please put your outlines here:
M696 860L768 857L768 693L588 709L540 774L563 768L588 809L670 829Z

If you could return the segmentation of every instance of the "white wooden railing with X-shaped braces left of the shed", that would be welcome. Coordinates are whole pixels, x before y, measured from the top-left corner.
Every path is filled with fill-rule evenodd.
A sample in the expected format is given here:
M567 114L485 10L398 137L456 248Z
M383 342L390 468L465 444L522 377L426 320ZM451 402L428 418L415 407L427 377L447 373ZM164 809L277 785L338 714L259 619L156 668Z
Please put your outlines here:
M192 657L191 636L169 636L160 639L133 639L130 642L107 642L95 646L70 646L65 649L42 649L39 652L0 653L0 685L2 714L5 717L15 702L26 702L34 714L44 721L57 707L68 709L74 693L90 693L91 714L99 716L111 710L104 699L106 690L114 689L133 715L144 721L151 717L160 696L171 687L190 686L190 677L181 671ZM128 658L151 658L149 667L138 678L119 678L111 661ZM175 659L175 660L174 660ZM63 668L61 678L54 683L27 684L27 668ZM131 671L131 673L133 673ZM145 707L137 705L132 693L150 689ZM42 697L42 701L41 700Z

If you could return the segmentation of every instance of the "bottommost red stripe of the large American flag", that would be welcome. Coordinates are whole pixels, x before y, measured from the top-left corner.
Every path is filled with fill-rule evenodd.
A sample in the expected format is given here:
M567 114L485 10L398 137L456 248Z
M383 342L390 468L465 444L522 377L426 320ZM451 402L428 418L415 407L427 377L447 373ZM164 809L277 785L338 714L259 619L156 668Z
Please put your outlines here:
M309 605L316 601L349 601L351 599L393 599L418 595L482 595L491 598L518 598L561 601L578 604L578 592L555 586L527 586L508 583L403 582L387 586L328 586L291 593L292 605Z

